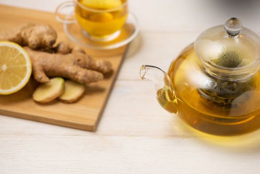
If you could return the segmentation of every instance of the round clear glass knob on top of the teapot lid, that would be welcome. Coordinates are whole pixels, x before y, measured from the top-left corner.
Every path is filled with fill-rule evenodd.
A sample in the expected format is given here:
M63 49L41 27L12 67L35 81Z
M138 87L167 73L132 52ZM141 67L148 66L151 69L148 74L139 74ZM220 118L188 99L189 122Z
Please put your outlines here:
M224 24L225 31L229 37L237 37L243 29L242 22L236 18L229 18Z

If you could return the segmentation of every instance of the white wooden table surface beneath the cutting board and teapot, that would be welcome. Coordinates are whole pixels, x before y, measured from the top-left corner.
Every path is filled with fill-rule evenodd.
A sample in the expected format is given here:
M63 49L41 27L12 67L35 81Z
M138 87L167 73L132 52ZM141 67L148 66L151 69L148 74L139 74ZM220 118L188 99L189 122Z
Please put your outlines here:
M54 11L64 0L0 0ZM237 2L233 0L234 2ZM260 2L131 0L141 32L132 42L96 132L0 116L0 174L259 174L260 131L199 133L164 111L141 64L167 70L204 29L231 16L260 33Z

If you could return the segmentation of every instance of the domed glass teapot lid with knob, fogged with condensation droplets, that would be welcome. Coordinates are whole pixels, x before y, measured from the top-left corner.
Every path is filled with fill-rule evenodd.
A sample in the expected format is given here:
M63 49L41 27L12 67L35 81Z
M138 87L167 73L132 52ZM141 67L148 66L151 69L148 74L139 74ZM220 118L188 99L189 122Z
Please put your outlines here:
M194 48L199 60L209 68L234 71L260 65L260 36L235 17L203 31Z

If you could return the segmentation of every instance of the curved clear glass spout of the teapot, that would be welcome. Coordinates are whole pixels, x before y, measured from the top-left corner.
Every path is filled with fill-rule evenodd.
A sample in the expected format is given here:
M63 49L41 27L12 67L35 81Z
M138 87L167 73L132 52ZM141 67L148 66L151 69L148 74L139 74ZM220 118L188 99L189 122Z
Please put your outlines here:
M168 74L151 65L142 65L139 74L142 80L148 79L154 83L157 101L160 105L168 112L178 113L177 98Z

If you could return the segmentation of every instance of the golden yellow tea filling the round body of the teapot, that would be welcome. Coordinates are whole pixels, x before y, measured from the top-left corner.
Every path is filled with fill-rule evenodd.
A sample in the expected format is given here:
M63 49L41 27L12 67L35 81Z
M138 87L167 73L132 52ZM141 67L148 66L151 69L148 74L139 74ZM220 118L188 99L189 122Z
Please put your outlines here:
M191 68L196 60L194 48L190 46L169 69L178 98L178 115L192 127L215 135L236 135L259 129L260 72L242 82L232 82L210 76L199 65ZM187 84L188 81L191 83ZM204 81L203 87L198 86L199 81ZM166 102L165 97L157 94L158 97ZM162 106L170 112L176 109L174 104Z

